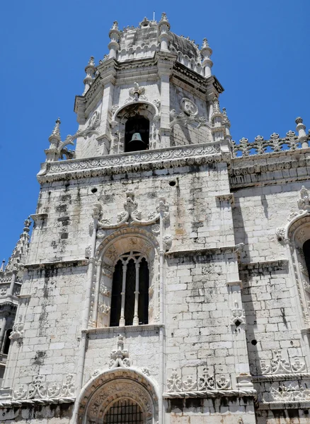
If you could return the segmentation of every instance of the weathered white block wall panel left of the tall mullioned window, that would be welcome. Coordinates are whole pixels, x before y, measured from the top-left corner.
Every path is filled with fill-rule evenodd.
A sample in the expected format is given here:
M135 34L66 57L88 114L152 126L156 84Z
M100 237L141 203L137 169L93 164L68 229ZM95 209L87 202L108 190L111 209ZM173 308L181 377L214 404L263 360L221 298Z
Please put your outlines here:
M67 375L75 381L85 278L86 266L74 264L28 270L21 295L29 297L18 310L24 333L12 341L6 387L27 390L37 375L45 389L64 384Z

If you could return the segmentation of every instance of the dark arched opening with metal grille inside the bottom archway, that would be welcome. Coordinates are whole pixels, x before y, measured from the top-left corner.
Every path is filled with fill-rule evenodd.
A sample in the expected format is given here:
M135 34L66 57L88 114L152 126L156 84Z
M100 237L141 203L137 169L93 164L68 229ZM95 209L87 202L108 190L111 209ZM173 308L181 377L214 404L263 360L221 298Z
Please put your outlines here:
M116 401L103 418L103 424L143 424L142 409L132 399Z

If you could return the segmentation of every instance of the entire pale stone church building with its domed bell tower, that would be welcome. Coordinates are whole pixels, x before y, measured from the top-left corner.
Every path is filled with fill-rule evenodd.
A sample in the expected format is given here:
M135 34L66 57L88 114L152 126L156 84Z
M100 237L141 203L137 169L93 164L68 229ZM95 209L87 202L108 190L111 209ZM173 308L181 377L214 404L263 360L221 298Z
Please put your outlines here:
M13 329L1 423L108 423L122 401L134 423L309 423L302 119L297 134L235 143L207 40L171 33L164 13L109 35L76 96L78 131L62 141L57 119L49 138L29 252L27 220L0 272L0 346ZM148 144L130 151L137 118Z

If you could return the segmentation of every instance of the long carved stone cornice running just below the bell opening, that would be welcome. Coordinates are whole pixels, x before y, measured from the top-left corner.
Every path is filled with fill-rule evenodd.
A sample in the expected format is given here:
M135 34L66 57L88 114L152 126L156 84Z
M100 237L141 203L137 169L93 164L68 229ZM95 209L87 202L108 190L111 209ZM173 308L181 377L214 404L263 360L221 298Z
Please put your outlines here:
M61 181L103 175L144 172L170 167L204 165L223 161L219 143L195 144L164 150L105 155L81 160L62 160L42 164L38 182ZM44 169L45 168L45 169Z

